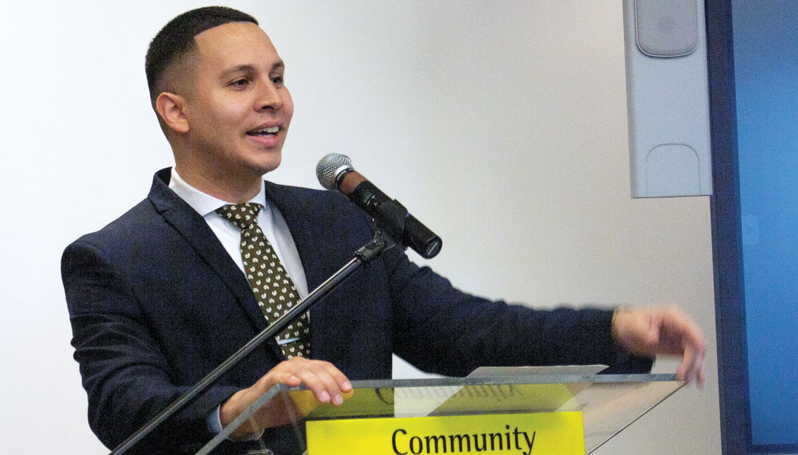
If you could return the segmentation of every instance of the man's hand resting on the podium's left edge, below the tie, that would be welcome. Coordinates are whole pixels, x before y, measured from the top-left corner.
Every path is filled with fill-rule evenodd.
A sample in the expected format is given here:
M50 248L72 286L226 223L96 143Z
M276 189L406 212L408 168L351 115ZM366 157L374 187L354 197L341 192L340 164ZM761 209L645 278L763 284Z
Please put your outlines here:
M253 386L239 390L224 402L219 408L222 427L230 425L235 417L277 384L290 387L304 384L319 403L332 403L334 406L341 406L344 394L352 391L349 379L332 363L294 357L280 362ZM286 409L286 401L272 399L252 414L252 417L235 429L230 436L234 440L252 439L259 437L263 429L287 425L290 421L290 411Z

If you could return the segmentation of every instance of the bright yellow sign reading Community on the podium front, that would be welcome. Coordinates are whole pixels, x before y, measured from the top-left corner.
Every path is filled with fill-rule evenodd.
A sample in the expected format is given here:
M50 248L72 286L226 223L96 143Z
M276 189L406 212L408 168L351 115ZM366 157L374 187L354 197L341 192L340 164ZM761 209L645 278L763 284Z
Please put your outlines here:
M307 422L308 455L585 455L582 413Z

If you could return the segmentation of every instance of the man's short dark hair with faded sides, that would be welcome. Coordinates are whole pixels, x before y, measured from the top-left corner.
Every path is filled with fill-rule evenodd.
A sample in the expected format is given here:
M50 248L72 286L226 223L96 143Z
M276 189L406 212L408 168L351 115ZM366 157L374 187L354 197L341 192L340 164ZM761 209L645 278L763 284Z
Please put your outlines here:
M147 49L144 70L147 73L147 85L153 106L163 91L166 69L184 53L194 49L196 45L194 37L205 30L229 22L252 22L258 25L255 18L239 10L227 6L205 6L180 14L169 21L155 38L152 38Z

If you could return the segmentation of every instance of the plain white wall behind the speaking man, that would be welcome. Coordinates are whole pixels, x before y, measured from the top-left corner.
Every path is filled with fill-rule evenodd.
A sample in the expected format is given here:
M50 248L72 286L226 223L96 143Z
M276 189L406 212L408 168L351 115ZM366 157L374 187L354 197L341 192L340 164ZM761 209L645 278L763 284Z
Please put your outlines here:
M194 6L31 0L0 14L2 453L105 453L59 259L172 163L144 52ZM599 452L720 453L709 200L630 199L620 2L230 6L271 35L297 106L271 179L317 188L318 158L345 152L443 237L433 267L480 295L681 303L709 338L705 390L681 390Z

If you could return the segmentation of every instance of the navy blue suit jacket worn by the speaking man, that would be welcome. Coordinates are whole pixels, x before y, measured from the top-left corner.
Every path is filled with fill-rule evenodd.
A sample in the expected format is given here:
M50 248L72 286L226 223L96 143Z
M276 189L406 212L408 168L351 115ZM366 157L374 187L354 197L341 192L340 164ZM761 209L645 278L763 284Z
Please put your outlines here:
M77 239L62 258L89 423L109 447L266 327L243 273L168 180L169 169L156 173L147 199ZM372 238L372 221L337 193L268 182L266 190L290 228L309 289ZM648 370L646 360L618 364L610 318L610 311L534 311L468 295L394 249L314 307L312 356L350 379L390 378L392 352L452 376L484 365ZM146 453L208 441L208 413L283 359L275 342L264 343L153 433Z

